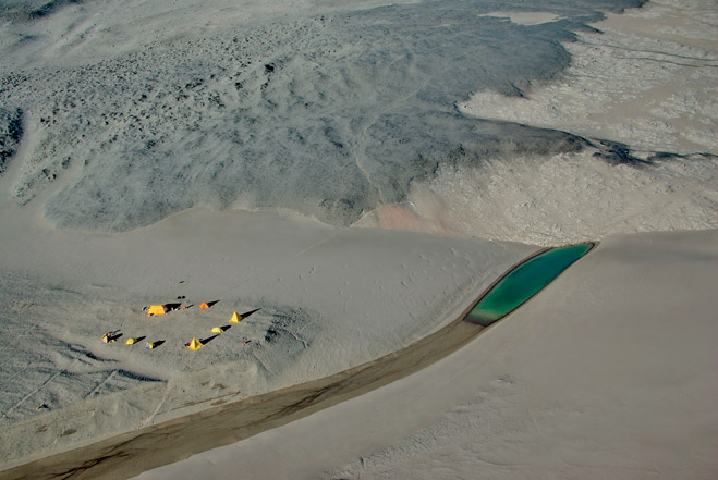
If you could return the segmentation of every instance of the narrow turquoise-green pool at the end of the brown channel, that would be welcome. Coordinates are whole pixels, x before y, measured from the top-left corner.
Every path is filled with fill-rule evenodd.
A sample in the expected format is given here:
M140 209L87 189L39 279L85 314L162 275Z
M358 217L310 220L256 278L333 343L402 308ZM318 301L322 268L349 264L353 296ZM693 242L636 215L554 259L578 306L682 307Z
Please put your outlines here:
M571 263L586 254L593 244L555 248L521 263L482 298L465 320L488 327L533 297Z

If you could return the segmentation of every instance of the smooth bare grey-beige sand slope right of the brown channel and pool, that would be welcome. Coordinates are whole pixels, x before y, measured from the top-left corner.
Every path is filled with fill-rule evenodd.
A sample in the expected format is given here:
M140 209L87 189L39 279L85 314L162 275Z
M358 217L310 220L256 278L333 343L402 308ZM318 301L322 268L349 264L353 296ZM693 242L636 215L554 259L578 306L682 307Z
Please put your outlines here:
M617 236L464 348L142 479L711 479L718 232Z

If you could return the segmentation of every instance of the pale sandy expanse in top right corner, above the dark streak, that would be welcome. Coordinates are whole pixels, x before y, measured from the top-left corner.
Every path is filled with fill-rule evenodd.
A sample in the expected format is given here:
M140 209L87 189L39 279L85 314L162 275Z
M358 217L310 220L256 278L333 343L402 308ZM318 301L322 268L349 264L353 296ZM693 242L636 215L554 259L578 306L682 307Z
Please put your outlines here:
M521 97L475 94L482 119L560 128L634 150L718 153L718 11L709 1L656 0L608 14L564 46L570 66Z

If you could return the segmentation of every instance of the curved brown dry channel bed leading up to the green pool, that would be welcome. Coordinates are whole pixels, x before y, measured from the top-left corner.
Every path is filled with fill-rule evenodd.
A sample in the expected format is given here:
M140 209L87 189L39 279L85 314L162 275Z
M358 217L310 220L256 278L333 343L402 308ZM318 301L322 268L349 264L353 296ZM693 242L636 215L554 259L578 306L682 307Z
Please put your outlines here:
M584 256L597 245L595 242L592 244ZM0 479L126 479L196 453L253 436L387 385L447 357L488 329L464 321L466 315L498 282L546 250L539 249L511 266L451 323L392 354L329 377L217 406L20 465L0 471ZM156 451L159 444L161 448Z

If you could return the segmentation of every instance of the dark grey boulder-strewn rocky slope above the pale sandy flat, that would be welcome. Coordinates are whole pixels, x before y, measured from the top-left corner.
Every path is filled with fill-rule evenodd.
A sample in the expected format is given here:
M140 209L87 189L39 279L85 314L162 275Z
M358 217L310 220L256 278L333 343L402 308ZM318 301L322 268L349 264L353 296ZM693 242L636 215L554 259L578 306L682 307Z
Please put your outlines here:
M22 22L75 14L73 2L56 3L23 20L15 2L5 16L22 32ZM404 200L412 181L441 164L580 150L571 135L477 121L454 103L486 88L521 95L565 67L560 41L598 9L637 3L512 3L561 19L539 25L479 16L507 10L490 1L334 10L196 30L75 66L5 71L0 108L25 112L32 145L12 195L25 204L61 182L46 214L65 227L127 230L197 204L351 224ZM62 41L90 41L80 24ZM21 37L9 51L41 41Z

